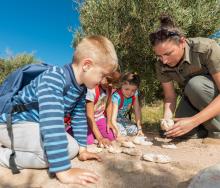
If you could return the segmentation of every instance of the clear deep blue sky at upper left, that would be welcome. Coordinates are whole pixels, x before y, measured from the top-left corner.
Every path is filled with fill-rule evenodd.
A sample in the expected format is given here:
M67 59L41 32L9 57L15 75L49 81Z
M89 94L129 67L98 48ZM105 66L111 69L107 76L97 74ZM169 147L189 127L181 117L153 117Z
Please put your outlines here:
M79 16L72 0L0 0L0 57L32 53L54 65L69 63Z

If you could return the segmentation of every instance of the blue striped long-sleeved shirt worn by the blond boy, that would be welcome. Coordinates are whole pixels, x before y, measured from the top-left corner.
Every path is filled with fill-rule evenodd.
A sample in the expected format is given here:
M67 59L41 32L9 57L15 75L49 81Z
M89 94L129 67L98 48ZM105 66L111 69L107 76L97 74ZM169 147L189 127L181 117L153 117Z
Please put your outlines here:
M18 95L13 97L15 104L31 102L39 104L39 112L32 109L15 113L12 122L39 122L50 172L71 168L64 127L64 116L67 113L71 113L74 138L80 146L86 146L85 86L80 86L76 82L71 65L69 68L73 85L67 91L65 91L66 75L63 68L54 66L32 80L30 84L19 91ZM0 122L6 122L6 114L0 116Z

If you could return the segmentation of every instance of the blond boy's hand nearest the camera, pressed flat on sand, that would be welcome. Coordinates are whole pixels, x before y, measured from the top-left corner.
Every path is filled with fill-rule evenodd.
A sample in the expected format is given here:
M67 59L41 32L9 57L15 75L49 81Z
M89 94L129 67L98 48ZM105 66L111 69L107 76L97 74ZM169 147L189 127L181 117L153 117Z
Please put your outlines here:
M58 180L65 184L80 184L87 185L89 183L96 183L99 179L98 175L86 169L71 168L62 172L57 172Z

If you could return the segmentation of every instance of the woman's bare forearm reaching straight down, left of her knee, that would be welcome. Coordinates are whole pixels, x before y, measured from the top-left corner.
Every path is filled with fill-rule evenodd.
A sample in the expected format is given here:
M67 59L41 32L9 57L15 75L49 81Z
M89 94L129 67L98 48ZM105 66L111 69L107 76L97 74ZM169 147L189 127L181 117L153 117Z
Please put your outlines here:
M162 83L164 92L164 119L171 119L176 108L176 92L173 82Z

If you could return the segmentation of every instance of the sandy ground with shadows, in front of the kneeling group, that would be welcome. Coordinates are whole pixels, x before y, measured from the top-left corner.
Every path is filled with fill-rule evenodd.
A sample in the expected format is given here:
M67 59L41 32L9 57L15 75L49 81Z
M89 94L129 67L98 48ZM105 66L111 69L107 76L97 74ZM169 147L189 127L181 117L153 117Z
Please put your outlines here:
M156 135L148 134L153 139ZM130 138L132 139L132 138ZM90 169L100 176L97 188L184 188L201 169L220 163L220 139L191 139L175 142L177 149L161 147L167 139L153 139L152 146L136 148L142 153L153 152L168 155L172 161L167 164L143 161L141 157L123 153L99 153L103 162L72 160L75 167ZM56 178L50 178L47 170L22 170L12 175L9 169L0 167L0 187L4 188L78 188L78 185L64 185Z

